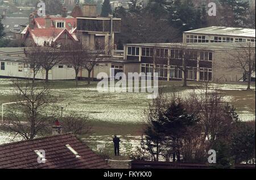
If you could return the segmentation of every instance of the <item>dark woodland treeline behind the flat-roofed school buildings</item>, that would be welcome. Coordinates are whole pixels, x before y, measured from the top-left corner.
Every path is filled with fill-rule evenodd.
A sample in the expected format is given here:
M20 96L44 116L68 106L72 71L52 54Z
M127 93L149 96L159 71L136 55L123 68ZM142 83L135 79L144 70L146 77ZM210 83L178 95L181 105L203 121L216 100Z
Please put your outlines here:
M181 42L182 32L212 25L255 28L255 8L247 2L217 1L217 16L208 16L208 4L198 1L131 2L128 9L117 7L113 11L115 17L122 18L121 33L115 38L118 49L130 42Z

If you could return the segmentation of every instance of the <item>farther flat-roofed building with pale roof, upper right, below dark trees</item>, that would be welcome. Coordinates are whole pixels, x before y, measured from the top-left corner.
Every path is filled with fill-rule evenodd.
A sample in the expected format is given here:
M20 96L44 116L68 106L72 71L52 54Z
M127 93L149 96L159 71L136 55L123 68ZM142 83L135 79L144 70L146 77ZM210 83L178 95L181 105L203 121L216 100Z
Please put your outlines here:
M255 29L207 27L183 32L183 43L255 42Z

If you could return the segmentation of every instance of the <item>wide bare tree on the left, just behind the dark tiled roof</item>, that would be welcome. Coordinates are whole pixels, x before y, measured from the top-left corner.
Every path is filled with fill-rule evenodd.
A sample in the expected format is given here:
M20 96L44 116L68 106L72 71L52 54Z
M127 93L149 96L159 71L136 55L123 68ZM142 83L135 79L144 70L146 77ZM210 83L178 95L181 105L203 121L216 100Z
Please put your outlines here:
M16 104L7 110L4 126L24 139L34 139L45 135L52 121L58 116L56 98L47 85L39 87L27 80L26 83L13 82Z

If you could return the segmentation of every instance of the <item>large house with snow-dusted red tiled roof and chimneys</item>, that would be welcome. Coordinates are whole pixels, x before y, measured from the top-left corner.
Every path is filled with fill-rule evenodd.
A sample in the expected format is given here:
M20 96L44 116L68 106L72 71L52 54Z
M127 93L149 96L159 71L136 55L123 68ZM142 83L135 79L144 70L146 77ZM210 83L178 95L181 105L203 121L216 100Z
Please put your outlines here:
M66 18L67 9L63 8L62 17L37 17L36 13L30 15L29 24L20 33L26 46L66 44L78 41L76 37L76 18Z

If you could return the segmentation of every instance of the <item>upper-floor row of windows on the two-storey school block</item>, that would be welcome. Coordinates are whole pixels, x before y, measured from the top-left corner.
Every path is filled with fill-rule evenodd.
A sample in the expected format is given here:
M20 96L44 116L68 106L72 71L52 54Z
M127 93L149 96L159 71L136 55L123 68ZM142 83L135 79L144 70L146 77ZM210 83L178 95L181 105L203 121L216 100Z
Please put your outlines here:
M168 57L168 49L156 49L156 57L167 58ZM203 61L212 61L212 53L211 52L195 52L195 51L185 51L185 57L193 60L197 60L200 53L200 60ZM127 55L137 55L139 56L139 48L128 47ZM154 51L153 48L142 48L142 56L144 57L153 57ZM183 58L183 50L174 50L171 49L171 58L172 59L182 59Z

